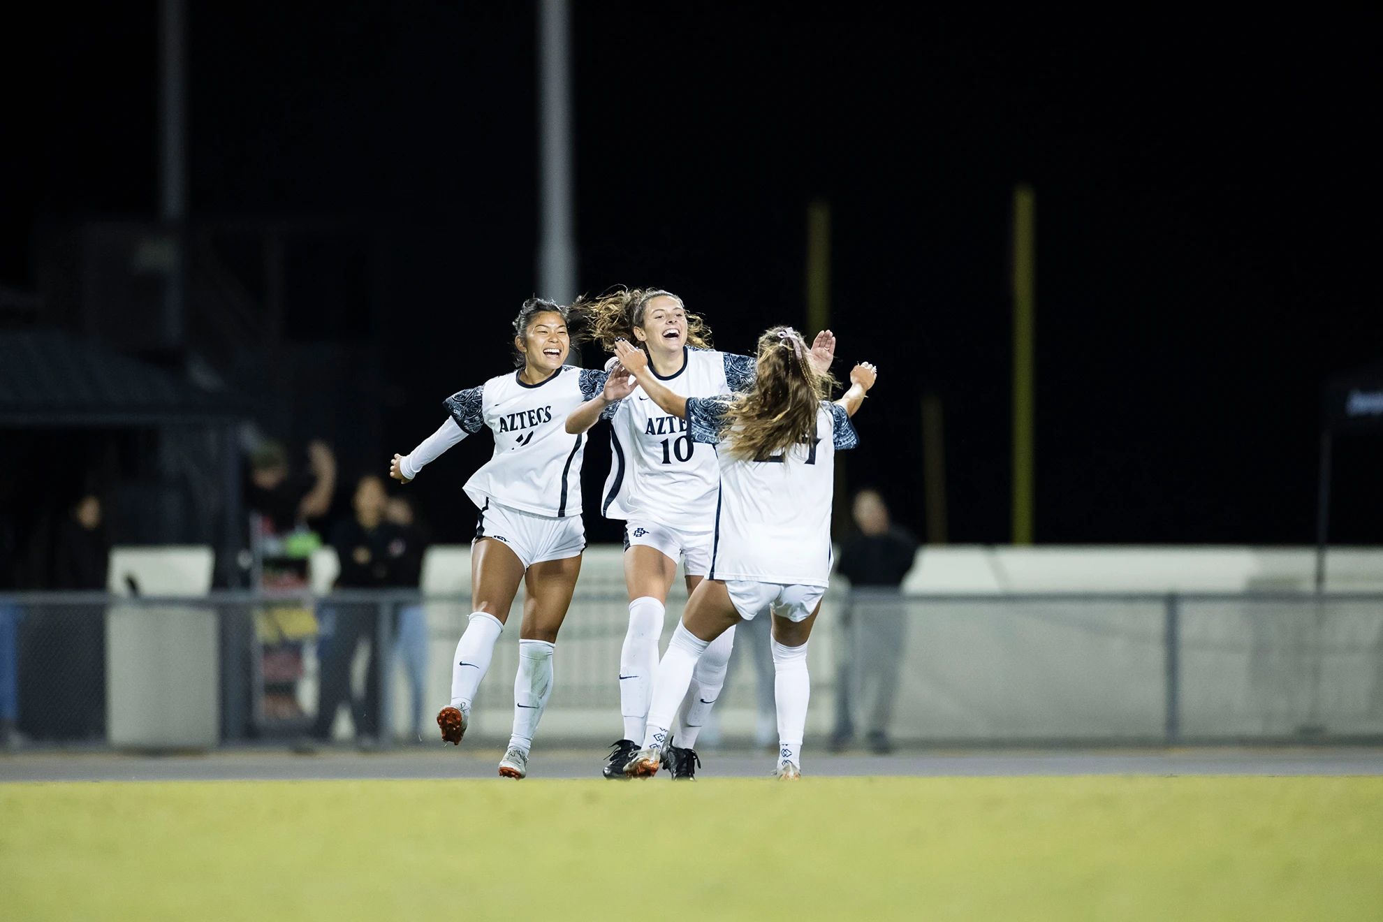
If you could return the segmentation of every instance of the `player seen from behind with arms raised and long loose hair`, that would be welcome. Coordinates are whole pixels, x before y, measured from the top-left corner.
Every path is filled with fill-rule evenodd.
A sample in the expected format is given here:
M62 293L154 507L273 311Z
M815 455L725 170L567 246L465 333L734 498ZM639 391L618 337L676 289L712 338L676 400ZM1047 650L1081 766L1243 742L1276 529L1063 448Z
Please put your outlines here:
M759 339L752 390L686 398L653 376L642 351L620 343L615 355L650 399L686 420L694 442L715 446L721 471L711 568L658 664L643 745L625 773L657 773L674 715L707 647L740 621L772 617L776 774L797 780L810 694L806 643L831 572L835 452L856 444L851 416L874 386L875 369L856 365L851 388L828 402L830 373L812 366L797 330L779 326Z

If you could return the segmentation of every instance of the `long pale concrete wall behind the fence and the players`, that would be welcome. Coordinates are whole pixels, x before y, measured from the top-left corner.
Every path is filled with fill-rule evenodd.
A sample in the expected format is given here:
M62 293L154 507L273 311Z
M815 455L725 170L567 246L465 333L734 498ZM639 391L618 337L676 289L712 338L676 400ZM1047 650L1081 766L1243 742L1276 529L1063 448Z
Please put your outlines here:
M423 589L469 594L469 550L433 549ZM1332 592L1383 590L1383 550L1332 550L1328 575ZM904 586L913 599L891 730L900 741L918 742L1160 740L1167 701L1162 599L1043 603L994 596L1304 592L1312 576L1308 547L924 547ZM844 581L812 637L813 735L828 733L835 719L841 590ZM675 587L664 644L683 603L685 590ZM521 594L514 618L520 611ZM625 611L621 549L588 549L541 730L549 745L621 735L614 676ZM1184 735L1383 734L1383 610L1377 603L1332 603L1329 615L1319 611L1310 597L1297 604L1182 603ZM467 614L466 603L427 604L429 698L437 706L449 695L451 657ZM718 706L719 731L747 741L755 728L755 680L745 644L737 647ZM479 740L508 735L516 665L517 632L510 628L477 695ZM401 679L394 715L396 726L407 727ZM425 738L429 730L423 727Z

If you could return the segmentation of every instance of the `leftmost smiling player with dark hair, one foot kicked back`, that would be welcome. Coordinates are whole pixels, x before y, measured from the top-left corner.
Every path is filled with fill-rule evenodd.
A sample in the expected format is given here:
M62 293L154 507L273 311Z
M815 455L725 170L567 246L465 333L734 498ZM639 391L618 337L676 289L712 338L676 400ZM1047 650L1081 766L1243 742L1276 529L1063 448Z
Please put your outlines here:
M480 510L472 543L470 623L456 644L451 668L451 705L437 715L441 738L459 744L470 723L476 688L490 668L499 632L523 581L514 726L499 774L528 774L534 731L552 694L552 655L557 630L581 572L584 435L566 431L567 413L603 390L611 399L628 394L626 377L607 382L603 370L563 365L571 350L568 308L530 299L514 318L516 372L447 398L451 413L409 455L394 455L389 474L405 484L444 451L490 429L495 453L466 481Z

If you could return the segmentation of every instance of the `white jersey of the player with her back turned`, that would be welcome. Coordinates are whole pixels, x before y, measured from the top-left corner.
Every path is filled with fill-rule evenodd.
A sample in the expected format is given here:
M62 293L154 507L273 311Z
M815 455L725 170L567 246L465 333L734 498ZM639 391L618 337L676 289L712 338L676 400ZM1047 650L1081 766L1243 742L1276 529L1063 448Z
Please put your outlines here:
M689 399L687 430L697 442L725 437L722 399ZM765 460L716 449L721 499L715 510L711 579L826 586L831 572L831 499L835 452L857 437L839 404L822 401L817 437Z

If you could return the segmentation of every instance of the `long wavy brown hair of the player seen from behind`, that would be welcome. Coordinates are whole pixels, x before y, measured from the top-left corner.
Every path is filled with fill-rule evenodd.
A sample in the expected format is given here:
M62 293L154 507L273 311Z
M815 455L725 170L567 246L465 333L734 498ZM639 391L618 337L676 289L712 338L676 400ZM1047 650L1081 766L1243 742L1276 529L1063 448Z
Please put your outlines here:
M835 379L812 368L810 350L791 326L759 337L754 388L726 411L726 451L744 460L768 460L816 438L816 413Z

